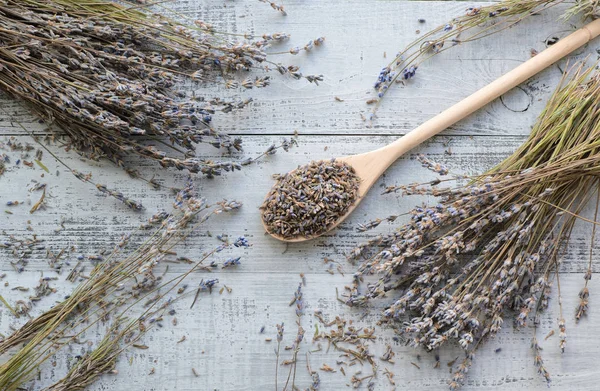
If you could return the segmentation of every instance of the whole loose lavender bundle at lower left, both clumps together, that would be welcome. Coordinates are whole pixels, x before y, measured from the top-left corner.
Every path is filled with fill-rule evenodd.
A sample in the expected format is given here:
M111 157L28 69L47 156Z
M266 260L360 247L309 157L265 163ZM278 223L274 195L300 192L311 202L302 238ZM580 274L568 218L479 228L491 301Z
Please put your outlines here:
M50 310L31 319L0 342L0 354L24 344L0 366L0 389L20 389L35 375L40 365L58 350L67 346L92 325L105 322L110 319L111 314L116 314L112 329L98 349L86 357L88 365L74 367L67 378L51 389L78 389L78 384L89 384L110 370L118 355L139 339L151 325L158 322L157 319L161 317L157 314L164 312L182 296L166 301L162 299L180 285L185 277L197 271L205 259L221 251L229 243L219 245L197 262L190 261L189 269L170 281L163 281L162 276L156 276L155 268L166 258L176 257L174 247L211 216L235 210L240 206L234 201L209 205L197 197L191 182L188 183L188 186L177 194L172 213L158 213L148 224L141 227L143 231L155 227L141 246L119 259L122 248L130 241L130 236L126 235L113 253L99 263L89 278L77 286L71 295ZM247 246L243 239L234 244ZM188 260L183 261L187 263ZM203 280L197 292L208 291L217 282L216 279ZM185 288L178 290L178 293L183 291ZM130 317L130 312L140 306L145 308L143 314L121 329L121 323ZM139 333L135 333L136 330Z

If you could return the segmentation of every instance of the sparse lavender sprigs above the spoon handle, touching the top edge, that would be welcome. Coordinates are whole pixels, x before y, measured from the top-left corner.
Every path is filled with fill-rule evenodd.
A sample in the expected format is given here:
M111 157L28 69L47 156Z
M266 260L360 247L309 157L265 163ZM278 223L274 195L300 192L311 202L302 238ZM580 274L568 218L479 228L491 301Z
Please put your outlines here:
M498 3L469 7L465 14L438 26L411 42L386 65L377 78L374 88L377 98L369 103L379 103L394 83L406 83L414 78L425 61L454 46L472 42L515 26L532 15L537 15L564 0L503 0ZM564 14L593 16L596 1L578 1ZM377 109L375 106L373 113ZM371 117L373 116L371 114Z

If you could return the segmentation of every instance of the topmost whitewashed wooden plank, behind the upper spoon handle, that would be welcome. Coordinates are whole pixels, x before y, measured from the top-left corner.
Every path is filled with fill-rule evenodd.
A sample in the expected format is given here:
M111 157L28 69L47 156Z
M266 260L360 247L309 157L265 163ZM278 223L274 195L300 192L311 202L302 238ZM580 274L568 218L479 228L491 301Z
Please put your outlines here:
M544 49L547 38L563 37L574 28L573 24L558 21L565 9L559 6L497 36L445 52L421 65L418 77L410 85L393 88L381 105L377 119L368 127L361 114L368 115L371 110L365 102L373 97L372 85L380 69L418 37L416 30L424 33L448 22L461 15L467 3L333 0L307 4L290 1L285 4L287 17L258 1L180 1L168 6L190 20L201 18L234 33L249 31L258 35L285 31L292 34L289 42L270 49L271 52L303 46L318 36L326 37L326 44L309 54L275 56L275 61L299 65L305 74L323 74L325 81L318 87L278 74L273 75L272 85L263 90L185 86L188 91L209 98L254 98L255 102L240 112L215 116L213 125L232 134L293 134L294 130L311 134L403 134L527 60L531 49ZM424 24L418 22L422 17L426 19ZM595 58L597 48L597 42L591 43L572 58L588 54ZM564 61L562 64L564 67ZM446 134L527 134L560 75L557 67L548 69ZM336 101L336 96L344 102ZM11 119L23 122L32 130L43 129L11 100L0 99L0 104L16 113L12 118L0 113L3 132L22 132L10 126Z

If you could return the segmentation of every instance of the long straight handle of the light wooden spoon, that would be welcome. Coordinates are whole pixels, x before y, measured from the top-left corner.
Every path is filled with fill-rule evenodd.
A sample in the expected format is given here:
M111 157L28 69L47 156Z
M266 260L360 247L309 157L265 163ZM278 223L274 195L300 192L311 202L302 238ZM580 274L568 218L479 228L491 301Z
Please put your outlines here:
M391 165L400 156L442 130L457 123L486 104L518 86L536 73L544 70L564 56L570 54L600 35L600 19L580 28L554 45L525 61L477 92L469 95L454 106L424 122L412 132L382 148L386 150ZM383 152L383 151L382 151ZM383 155L383 154L382 154Z

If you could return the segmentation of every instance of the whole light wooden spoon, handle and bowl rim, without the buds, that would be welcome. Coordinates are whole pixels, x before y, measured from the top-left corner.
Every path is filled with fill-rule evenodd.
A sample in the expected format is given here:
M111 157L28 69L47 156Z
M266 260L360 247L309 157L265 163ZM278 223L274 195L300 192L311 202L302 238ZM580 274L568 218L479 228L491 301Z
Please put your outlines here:
M400 156L421 144L423 141L440 133L442 130L464 119L469 114L479 110L502 94L508 92L533 75L554 64L564 56L585 45L598 35L600 35L600 19L587 24L581 29L561 39L554 45L537 54L535 57L525 61L512 71L481 88L479 91L444 110L393 143L371 152L336 158L336 160L350 164L361 179L361 183L356 202L350 207L348 212L341 216L335 224L331 225L326 232L334 229L338 224L344 221L354 209L356 209L375 181L377 181L385 170L387 170ZM265 230L267 230L266 226ZM321 236L326 232L311 237L297 236L284 238L275 234L270 235L284 242L303 242Z

